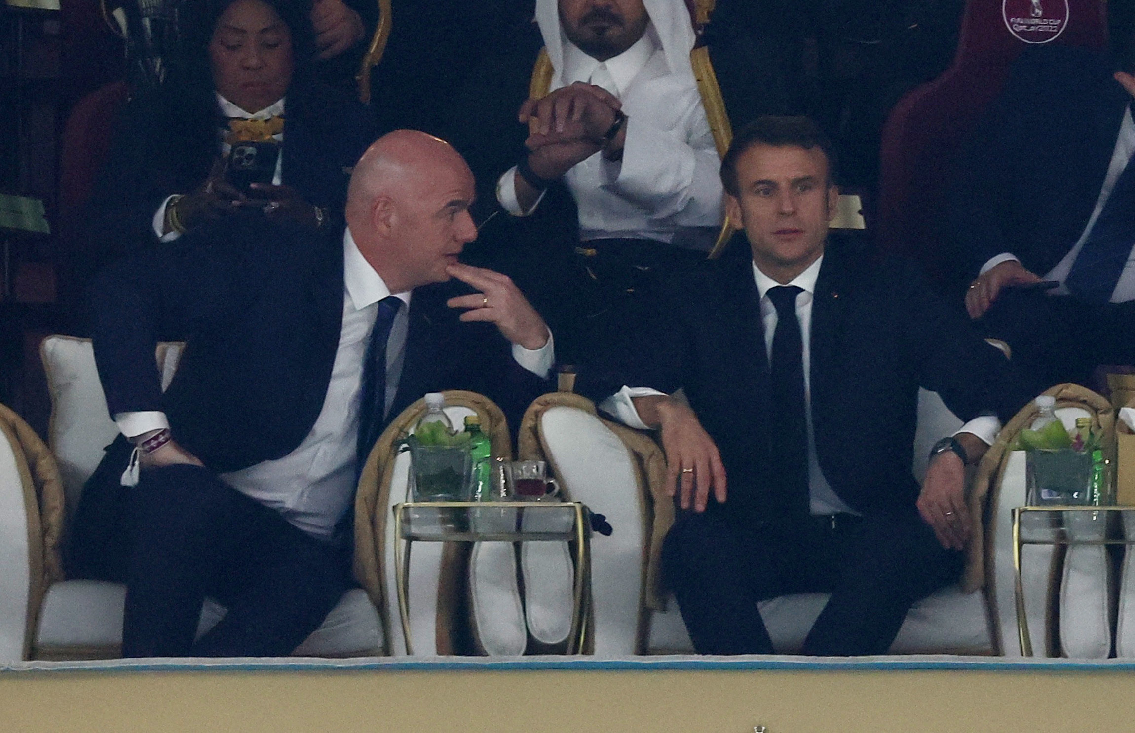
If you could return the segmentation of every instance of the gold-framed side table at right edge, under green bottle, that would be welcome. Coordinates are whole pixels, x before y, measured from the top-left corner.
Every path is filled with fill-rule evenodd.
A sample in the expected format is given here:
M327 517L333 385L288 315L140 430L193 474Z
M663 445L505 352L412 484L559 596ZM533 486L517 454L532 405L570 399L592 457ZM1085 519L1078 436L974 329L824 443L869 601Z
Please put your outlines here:
M1012 510L1012 570L1016 581L1017 634L1020 653L1033 656L1022 580L1025 545L1135 545L1124 531L1123 513L1135 506L1018 506Z

